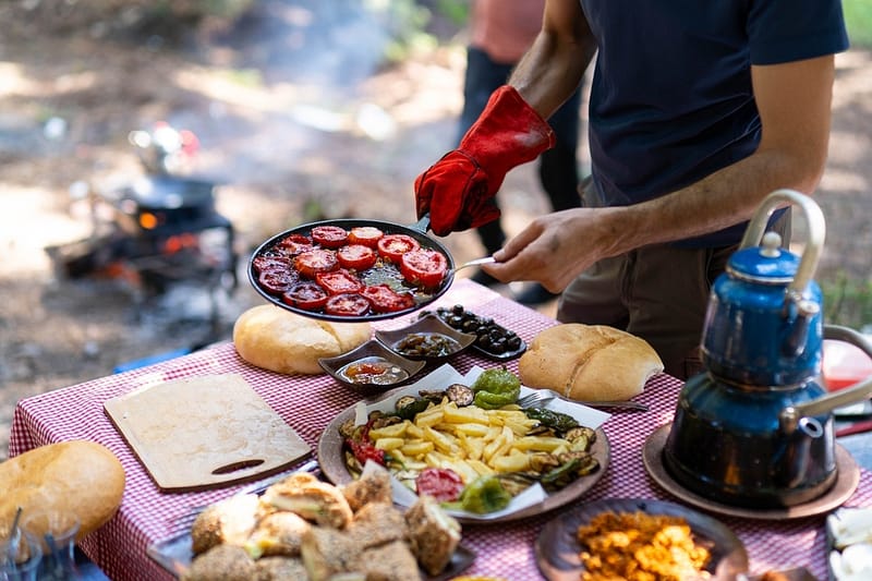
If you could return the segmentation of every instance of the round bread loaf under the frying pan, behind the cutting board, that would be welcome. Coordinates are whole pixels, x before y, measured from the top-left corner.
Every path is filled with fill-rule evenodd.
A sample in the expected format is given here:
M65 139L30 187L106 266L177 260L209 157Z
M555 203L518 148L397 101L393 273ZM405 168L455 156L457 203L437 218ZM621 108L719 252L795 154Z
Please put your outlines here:
M259 305L233 325L233 344L242 359L287 374L324 373L320 358L335 358L370 340L368 323L331 323L304 317L275 305Z

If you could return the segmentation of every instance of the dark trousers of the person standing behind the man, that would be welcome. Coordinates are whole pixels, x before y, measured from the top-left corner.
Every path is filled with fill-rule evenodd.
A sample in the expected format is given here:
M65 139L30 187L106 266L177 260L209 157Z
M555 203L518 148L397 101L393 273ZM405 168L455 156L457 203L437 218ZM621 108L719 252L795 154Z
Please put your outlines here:
M484 111L491 94L505 85L516 63L498 63L483 50L467 50L467 73L463 78L463 111L460 114L460 137ZM556 145L538 158L538 175L552 208L562 210L581 205L578 192L579 172L576 149L579 143L579 107L581 92L577 90L549 119ZM460 138L458 138L458 142ZM477 230L488 254L502 247L506 233L500 220Z

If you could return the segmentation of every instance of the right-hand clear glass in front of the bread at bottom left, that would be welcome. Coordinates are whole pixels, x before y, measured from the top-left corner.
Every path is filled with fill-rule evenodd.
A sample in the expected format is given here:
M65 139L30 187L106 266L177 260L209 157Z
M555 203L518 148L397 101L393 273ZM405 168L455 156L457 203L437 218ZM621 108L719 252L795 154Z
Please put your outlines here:
M78 579L75 566L75 535L78 518L72 512L34 512L24 517L22 528L43 553L39 581Z

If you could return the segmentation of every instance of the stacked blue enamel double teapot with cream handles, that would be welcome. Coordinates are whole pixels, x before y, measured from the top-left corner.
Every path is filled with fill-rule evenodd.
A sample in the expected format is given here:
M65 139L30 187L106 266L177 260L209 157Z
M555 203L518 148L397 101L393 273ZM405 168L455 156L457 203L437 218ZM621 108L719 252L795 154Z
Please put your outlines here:
M804 214L801 256L764 232L778 207ZM835 408L869 398L872 378L827 392L824 339L872 343L823 324L812 279L823 249L820 207L791 190L770 194L749 222L726 271L714 282L702 334L705 371L679 395L663 462L678 483L746 507L786 507L825 494L836 482Z

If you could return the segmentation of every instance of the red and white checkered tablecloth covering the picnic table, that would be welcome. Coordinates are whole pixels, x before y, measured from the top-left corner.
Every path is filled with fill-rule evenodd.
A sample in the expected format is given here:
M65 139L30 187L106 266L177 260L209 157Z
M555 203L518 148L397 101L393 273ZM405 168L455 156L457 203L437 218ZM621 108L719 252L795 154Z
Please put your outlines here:
M456 303L480 315L494 317L526 341L555 324L549 317L468 280L457 281L436 305ZM414 316L383 320L374 326L399 327ZM486 367L494 364L472 353L462 353L450 363L461 373L473 365ZM517 372L517 361L508 366ZM249 365L239 358L231 343L225 343L19 402L12 422L10 456L55 441L88 439L108 447L123 464L126 487L118 515L81 543L88 557L111 579L171 579L147 556L146 548L166 538L171 533L173 519L185 513L189 507L225 498L237 487L161 493L104 413L104 402L156 382L217 373L241 374L313 450L329 421L359 399L356 394L337 385L327 375L288 376ZM616 413L606 422L604 429L610 444L610 463L603 479L577 503L598 498L680 501L651 481L642 461L645 439L656 428L671 422L680 388L681 383L677 379L667 375L656 376L637 398L647 403L651 411ZM846 506L869 506L870 501L872 474L861 471L859 487ZM534 543L542 526L552 518L554 512L498 525L464 526L463 543L477 553L475 562L465 572L512 581L541 579ZM824 516L777 522L736 517L718 519L744 543L752 573L802 565L816 577L826 578Z

